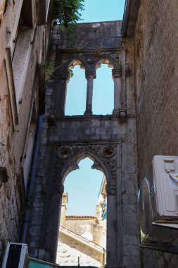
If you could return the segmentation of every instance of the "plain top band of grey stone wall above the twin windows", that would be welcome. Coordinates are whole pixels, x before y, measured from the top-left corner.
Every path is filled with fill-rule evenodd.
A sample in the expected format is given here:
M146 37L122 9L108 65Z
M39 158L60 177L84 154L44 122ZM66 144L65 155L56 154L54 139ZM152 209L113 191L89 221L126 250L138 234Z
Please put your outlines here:
M67 34L56 25L56 28L53 28L53 44L60 49L73 49L77 53L84 49L96 49L98 53L104 48L117 49L121 47L121 26L122 20L80 23Z

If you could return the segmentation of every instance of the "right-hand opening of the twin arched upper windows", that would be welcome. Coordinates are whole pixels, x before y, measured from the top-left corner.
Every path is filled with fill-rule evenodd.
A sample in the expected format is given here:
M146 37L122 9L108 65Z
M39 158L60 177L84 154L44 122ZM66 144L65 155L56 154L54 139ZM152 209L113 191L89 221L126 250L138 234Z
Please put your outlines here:
M94 79L93 114L112 114L114 108L114 83L112 69L107 63L99 64Z

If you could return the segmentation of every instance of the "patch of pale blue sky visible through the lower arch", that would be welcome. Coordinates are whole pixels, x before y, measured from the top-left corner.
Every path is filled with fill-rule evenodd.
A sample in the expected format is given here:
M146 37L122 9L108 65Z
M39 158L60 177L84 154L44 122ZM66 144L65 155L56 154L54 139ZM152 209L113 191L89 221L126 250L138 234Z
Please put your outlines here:
M91 159L86 158L80 162L80 169L72 171L65 178L64 191L68 192L67 215L95 216L103 173L91 169L93 164Z

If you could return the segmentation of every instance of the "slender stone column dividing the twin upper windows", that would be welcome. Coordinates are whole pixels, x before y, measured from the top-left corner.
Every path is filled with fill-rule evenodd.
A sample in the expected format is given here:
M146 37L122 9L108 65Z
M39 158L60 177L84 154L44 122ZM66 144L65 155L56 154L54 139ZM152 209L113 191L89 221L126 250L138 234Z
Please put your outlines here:
M84 115L91 116L94 78L96 78L96 72L86 72L86 78L87 78L87 102L86 102L86 111L84 112Z

